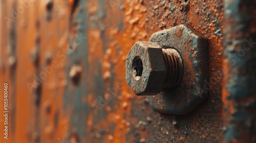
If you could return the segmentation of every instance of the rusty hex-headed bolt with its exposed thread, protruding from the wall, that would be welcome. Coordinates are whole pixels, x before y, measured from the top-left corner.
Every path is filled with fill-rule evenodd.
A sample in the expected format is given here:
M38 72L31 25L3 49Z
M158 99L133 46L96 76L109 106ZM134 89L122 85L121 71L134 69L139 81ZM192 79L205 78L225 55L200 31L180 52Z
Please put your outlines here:
M126 57L126 82L137 96L174 91L183 78L183 62L175 49L138 41Z

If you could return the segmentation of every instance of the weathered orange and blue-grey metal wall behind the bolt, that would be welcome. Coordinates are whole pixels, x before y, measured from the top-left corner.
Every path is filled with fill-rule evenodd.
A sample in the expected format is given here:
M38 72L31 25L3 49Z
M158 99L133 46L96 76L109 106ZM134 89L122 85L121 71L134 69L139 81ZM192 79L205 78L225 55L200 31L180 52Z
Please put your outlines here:
M1 142L222 141L223 1L11 0L1 11L10 111ZM136 41L181 24L209 39L209 97L188 115L160 114L125 83L125 58Z

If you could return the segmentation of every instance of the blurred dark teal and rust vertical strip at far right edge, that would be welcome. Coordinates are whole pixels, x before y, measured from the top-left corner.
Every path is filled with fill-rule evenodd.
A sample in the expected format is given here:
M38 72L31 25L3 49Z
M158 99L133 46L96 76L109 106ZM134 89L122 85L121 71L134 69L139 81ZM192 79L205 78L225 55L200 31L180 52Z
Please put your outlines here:
M256 142L256 1L225 1L225 142Z

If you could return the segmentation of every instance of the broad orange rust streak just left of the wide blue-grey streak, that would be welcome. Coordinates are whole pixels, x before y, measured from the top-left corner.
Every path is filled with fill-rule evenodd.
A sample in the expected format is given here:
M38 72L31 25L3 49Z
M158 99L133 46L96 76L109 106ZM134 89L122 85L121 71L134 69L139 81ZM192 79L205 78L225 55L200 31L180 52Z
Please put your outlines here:
M46 2L40 3L39 17L40 19L40 73L44 70L42 67L52 68L52 72L42 83L41 105L50 102L51 111L47 113L45 108L40 110L40 127L42 142L58 142L62 140L69 130L70 111L63 111L63 93L67 84L64 65L67 64L67 33L69 18L68 8L66 3L62 1L54 1L51 20L46 20ZM54 11L58 10L55 15ZM56 29L58 27L58 29ZM59 35L57 34L59 32ZM46 42L47 41L47 42ZM65 54L65 57L59 57L58 54ZM50 54L51 62L46 64L46 55ZM53 64L56 63L56 67ZM56 93L56 90L58 91ZM65 112L65 113L64 113ZM66 116L64 116L66 115ZM56 124L56 125L55 125ZM57 128L56 128L57 127ZM48 135L49 134L49 135Z

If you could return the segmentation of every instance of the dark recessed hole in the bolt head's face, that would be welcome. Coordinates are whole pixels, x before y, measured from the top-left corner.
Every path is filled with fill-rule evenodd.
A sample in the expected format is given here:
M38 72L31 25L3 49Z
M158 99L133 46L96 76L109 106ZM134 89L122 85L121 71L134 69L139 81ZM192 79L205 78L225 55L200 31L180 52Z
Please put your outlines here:
M142 76L143 63L139 56L135 56L133 59L132 68L134 70L133 75L136 80L139 80Z

